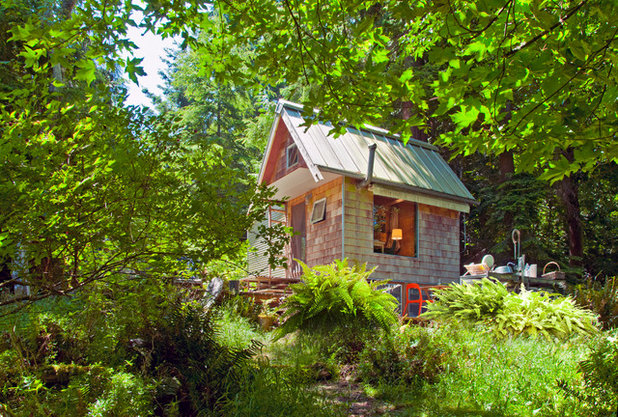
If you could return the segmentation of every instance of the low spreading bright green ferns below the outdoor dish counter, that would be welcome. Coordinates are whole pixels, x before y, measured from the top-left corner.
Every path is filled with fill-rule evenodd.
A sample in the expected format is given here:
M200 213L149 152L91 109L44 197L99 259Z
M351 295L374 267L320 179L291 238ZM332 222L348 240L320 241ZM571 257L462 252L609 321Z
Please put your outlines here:
M425 317L486 323L502 337L509 334L568 337L597 331L596 316L576 306L569 297L524 288L516 294L486 278L480 283L451 284L438 291L436 297Z

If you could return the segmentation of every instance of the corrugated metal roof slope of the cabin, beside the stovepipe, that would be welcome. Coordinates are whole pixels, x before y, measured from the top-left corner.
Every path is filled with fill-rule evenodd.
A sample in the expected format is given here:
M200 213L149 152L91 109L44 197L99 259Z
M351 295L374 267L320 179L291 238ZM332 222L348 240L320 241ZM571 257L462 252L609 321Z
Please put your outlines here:
M281 112L288 129L302 142L310 161L318 167L358 176L367 172L368 147L376 143L376 158L373 176L392 184L416 187L445 196L473 201L474 197L457 178L448 164L430 144L410 140L403 144L396 137L388 136L382 129L368 127L355 129L348 127L346 133L338 138L329 136L330 127L324 123L300 126L304 119L298 105L283 104Z

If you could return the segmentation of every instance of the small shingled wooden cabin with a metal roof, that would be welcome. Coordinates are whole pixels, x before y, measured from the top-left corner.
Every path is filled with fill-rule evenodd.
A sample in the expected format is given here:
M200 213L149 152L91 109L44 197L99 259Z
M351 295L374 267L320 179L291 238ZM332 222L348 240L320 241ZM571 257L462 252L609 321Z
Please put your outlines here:
M404 145L369 126L348 127L335 139L326 124L301 126L301 111L279 102L259 174L281 202L265 222L284 222L296 232L282 254L289 267L269 269L260 256L264 242L250 232L258 248L250 270L297 278L302 271L293 259L314 266L348 258L377 266L373 279L399 284L393 294L404 305L407 283L457 281L460 215L474 198L438 149L414 139Z

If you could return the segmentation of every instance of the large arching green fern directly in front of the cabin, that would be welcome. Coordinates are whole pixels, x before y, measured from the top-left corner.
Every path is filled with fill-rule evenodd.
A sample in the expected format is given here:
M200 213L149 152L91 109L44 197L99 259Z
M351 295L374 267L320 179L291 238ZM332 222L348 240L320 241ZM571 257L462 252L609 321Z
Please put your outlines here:
M285 321L277 337L296 330L328 334L389 329L397 323L396 299L377 288L383 281L368 281L373 270L367 271L366 265L349 266L345 259L313 269L300 264L303 282L291 286L293 293L283 304Z

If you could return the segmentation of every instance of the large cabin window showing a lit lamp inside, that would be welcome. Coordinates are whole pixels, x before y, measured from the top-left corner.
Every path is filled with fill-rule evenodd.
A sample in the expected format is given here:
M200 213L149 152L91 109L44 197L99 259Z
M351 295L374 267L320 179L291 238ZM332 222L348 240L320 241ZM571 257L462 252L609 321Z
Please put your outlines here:
M417 256L418 207L416 203L373 197L373 251L399 256Z

